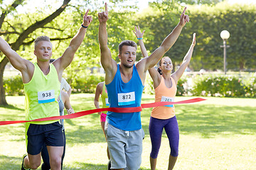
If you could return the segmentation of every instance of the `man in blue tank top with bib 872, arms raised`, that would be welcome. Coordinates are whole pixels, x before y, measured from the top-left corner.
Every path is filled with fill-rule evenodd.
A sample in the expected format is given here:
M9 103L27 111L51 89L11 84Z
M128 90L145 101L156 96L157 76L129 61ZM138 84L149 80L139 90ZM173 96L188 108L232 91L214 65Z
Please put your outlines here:
M110 49L107 47L107 4L105 4L105 11L98 13L100 60L106 72L105 84L110 108L125 109L141 106L146 72L154 67L165 52L174 45L183 26L188 22L185 10L181 14L178 25L161 45L149 57L139 60L137 64L134 64L137 44L132 40L124 40L119 44L120 64L112 59ZM139 169L142 162L144 137L140 112L108 112L105 132L110 150L111 169Z

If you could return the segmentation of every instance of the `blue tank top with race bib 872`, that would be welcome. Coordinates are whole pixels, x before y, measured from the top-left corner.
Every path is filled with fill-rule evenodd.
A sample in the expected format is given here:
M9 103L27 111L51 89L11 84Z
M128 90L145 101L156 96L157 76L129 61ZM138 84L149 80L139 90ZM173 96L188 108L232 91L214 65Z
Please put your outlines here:
M110 108L132 108L141 106L142 91L144 86L139 77L137 69L133 67L132 79L124 83L121 78L119 64L117 64L117 73L110 84L106 84L107 96ZM141 113L116 113L107 112L107 122L120 130L132 131L142 128Z

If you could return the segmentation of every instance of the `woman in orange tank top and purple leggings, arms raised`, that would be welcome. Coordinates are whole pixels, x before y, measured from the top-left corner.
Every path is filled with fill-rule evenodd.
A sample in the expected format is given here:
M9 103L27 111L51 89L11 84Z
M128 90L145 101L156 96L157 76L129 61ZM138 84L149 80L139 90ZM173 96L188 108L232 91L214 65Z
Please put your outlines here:
M142 40L144 34L136 27L134 31L135 35L139 40L139 45L142 50L142 55L147 57L146 48ZM175 41L174 41L175 42ZM174 101L176 96L176 84L181 79L183 72L188 67L189 62L193 54L193 47L196 45L196 33L193 33L193 40L191 47L189 48L186 56L183 58L181 67L177 69L174 74L171 74L173 64L169 57L163 57L159 62L159 69L156 71L154 67L149 69L149 74L154 82L155 89L155 101ZM150 154L150 165L151 169L156 169L156 159L159 153L161 145L161 135L163 129L166 131L166 135L169 138L169 145L171 148L171 154L169 156L169 167L173 169L178 158L178 123L174 111L174 106L159 106L153 108L151 112L151 118L149 122L149 134L151 138L151 154Z

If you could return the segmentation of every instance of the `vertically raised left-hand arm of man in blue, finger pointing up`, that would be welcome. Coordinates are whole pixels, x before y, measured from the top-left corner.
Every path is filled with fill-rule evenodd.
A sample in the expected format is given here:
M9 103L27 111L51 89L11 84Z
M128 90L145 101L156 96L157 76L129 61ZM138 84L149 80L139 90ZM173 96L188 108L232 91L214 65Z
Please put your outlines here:
M106 72L106 84L112 81L114 73L117 70L117 64L112 60L109 47L107 47L107 3L105 3L105 11L98 13L99 25L99 42L100 42L100 62ZM110 80L110 81L108 81Z

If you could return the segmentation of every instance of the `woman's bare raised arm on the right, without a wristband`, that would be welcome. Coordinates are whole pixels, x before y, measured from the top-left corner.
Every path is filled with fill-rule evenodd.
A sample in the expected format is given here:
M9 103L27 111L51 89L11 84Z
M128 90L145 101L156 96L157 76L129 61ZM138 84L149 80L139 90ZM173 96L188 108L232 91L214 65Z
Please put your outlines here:
M179 79L181 79L181 76L183 72L185 71L186 67L188 67L189 62L191 61L191 57L193 54L193 47L196 45L196 33L193 33L193 40L191 43L191 47L189 48L188 52L186 53L185 57L183 58L183 62L181 64L181 67L179 67L174 74L171 75L171 77L174 78L174 81L178 82Z

